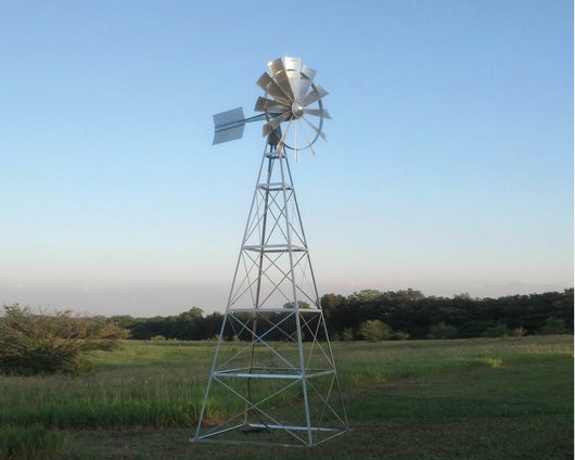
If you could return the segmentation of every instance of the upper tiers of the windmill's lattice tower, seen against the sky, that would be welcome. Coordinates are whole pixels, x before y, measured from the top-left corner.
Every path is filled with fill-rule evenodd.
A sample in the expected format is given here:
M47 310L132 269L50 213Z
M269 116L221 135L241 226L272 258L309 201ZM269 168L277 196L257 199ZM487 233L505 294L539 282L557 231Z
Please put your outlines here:
M285 175L289 164L274 168L277 156L268 159L268 181L256 187L229 306L281 308L297 297L301 305L319 308L295 191ZM279 176L289 182L270 182L273 169L283 169Z

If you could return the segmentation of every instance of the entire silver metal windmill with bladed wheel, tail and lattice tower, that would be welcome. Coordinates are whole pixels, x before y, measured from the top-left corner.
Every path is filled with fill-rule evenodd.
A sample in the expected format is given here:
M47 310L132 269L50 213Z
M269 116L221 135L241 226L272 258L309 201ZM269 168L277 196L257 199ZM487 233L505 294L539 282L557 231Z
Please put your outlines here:
M325 139L328 92L298 58L268 67L258 115L214 115L214 144L252 122L266 144L193 440L311 447L349 430L289 164Z

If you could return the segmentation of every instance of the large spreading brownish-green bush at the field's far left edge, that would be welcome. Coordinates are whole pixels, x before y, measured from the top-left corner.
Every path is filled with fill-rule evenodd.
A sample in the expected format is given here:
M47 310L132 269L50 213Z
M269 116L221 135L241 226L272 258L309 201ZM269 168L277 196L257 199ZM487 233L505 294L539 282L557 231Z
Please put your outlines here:
M4 306L0 318L0 372L80 373L90 370L81 352L110 349L128 332L103 318L75 317L71 311L34 314L17 304Z

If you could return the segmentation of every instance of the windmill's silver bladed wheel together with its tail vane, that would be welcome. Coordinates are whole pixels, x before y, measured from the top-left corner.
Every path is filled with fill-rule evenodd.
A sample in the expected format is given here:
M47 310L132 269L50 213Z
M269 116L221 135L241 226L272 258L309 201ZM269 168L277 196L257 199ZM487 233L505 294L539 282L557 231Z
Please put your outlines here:
M265 120L261 133L280 154L284 149L294 151L296 161L299 151L315 154L316 141L325 140L323 120L331 119L322 103L328 91L314 82L316 71L302 66L299 58L279 58L268 68L256 81L265 91L254 107L260 114L244 118L240 107L214 115L214 144L240 139L245 123Z

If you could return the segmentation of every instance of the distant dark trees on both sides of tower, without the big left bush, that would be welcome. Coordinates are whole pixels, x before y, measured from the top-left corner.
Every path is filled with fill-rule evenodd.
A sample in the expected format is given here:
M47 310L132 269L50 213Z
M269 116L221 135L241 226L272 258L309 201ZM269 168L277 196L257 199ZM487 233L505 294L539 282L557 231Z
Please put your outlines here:
M412 289L363 290L348 296L325 294L320 302L332 341L573 333L573 289L499 298L425 296ZM214 338L222 320L222 314L204 316L199 307L177 316L110 318L135 340Z

